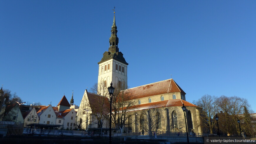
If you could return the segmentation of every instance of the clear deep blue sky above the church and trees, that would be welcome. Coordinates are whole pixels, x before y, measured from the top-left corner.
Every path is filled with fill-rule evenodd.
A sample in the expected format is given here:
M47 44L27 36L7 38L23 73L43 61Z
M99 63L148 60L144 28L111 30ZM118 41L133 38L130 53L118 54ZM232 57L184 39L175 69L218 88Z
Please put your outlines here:
M0 1L0 84L24 101L79 105L97 83L116 7L130 88L171 78L189 102L247 98L256 111L256 1Z

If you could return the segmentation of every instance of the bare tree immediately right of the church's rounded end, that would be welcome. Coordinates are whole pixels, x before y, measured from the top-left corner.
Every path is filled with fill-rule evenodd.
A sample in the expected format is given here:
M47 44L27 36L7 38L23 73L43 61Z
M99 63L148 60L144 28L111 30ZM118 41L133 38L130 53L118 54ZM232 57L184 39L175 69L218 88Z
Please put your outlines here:
M202 98L194 102L195 105L202 108L201 110L201 120L202 126L209 129L210 133L213 133L216 121L213 120L215 114L218 112L217 97L204 95Z

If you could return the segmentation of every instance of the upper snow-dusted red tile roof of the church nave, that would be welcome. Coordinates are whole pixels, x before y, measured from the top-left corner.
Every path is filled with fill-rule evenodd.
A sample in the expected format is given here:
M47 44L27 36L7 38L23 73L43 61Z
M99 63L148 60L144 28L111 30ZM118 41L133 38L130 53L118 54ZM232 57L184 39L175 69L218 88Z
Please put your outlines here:
M148 96L155 96L164 93L182 92L185 93L175 81L171 78L156 83L150 83L135 88L125 90L126 93L131 94L131 99L144 98ZM185 93L186 94L186 93Z

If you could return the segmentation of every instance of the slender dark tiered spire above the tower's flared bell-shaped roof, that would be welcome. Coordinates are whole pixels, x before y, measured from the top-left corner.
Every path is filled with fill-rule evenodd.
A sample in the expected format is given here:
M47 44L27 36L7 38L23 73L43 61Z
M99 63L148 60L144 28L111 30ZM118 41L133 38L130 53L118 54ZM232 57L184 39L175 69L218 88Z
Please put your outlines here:
M110 53L119 52L115 12L114 12L113 25L111 27L111 36L109 38L109 52Z

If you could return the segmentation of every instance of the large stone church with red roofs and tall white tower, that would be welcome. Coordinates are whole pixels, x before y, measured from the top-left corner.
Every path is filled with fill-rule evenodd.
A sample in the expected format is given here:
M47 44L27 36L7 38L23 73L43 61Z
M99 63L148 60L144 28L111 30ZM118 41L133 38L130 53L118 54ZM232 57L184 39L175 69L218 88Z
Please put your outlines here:
M144 135L152 135L154 132L184 133L186 125L181 108L184 105L188 132L193 130L195 133L202 133L200 108L186 101L186 93L172 78L127 89L128 63L119 51L118 43L114 14L109 48L98 62L98 86L94 93L85 90L77 112L77 125L84 130L109 128L110 103L107 87L113 83L116 89L122 87L119 90L126 98L122 97L123 107L112 110L112 128L119 128L126 133L139 133L143 130ZM120 99L117 98L113 103Z

